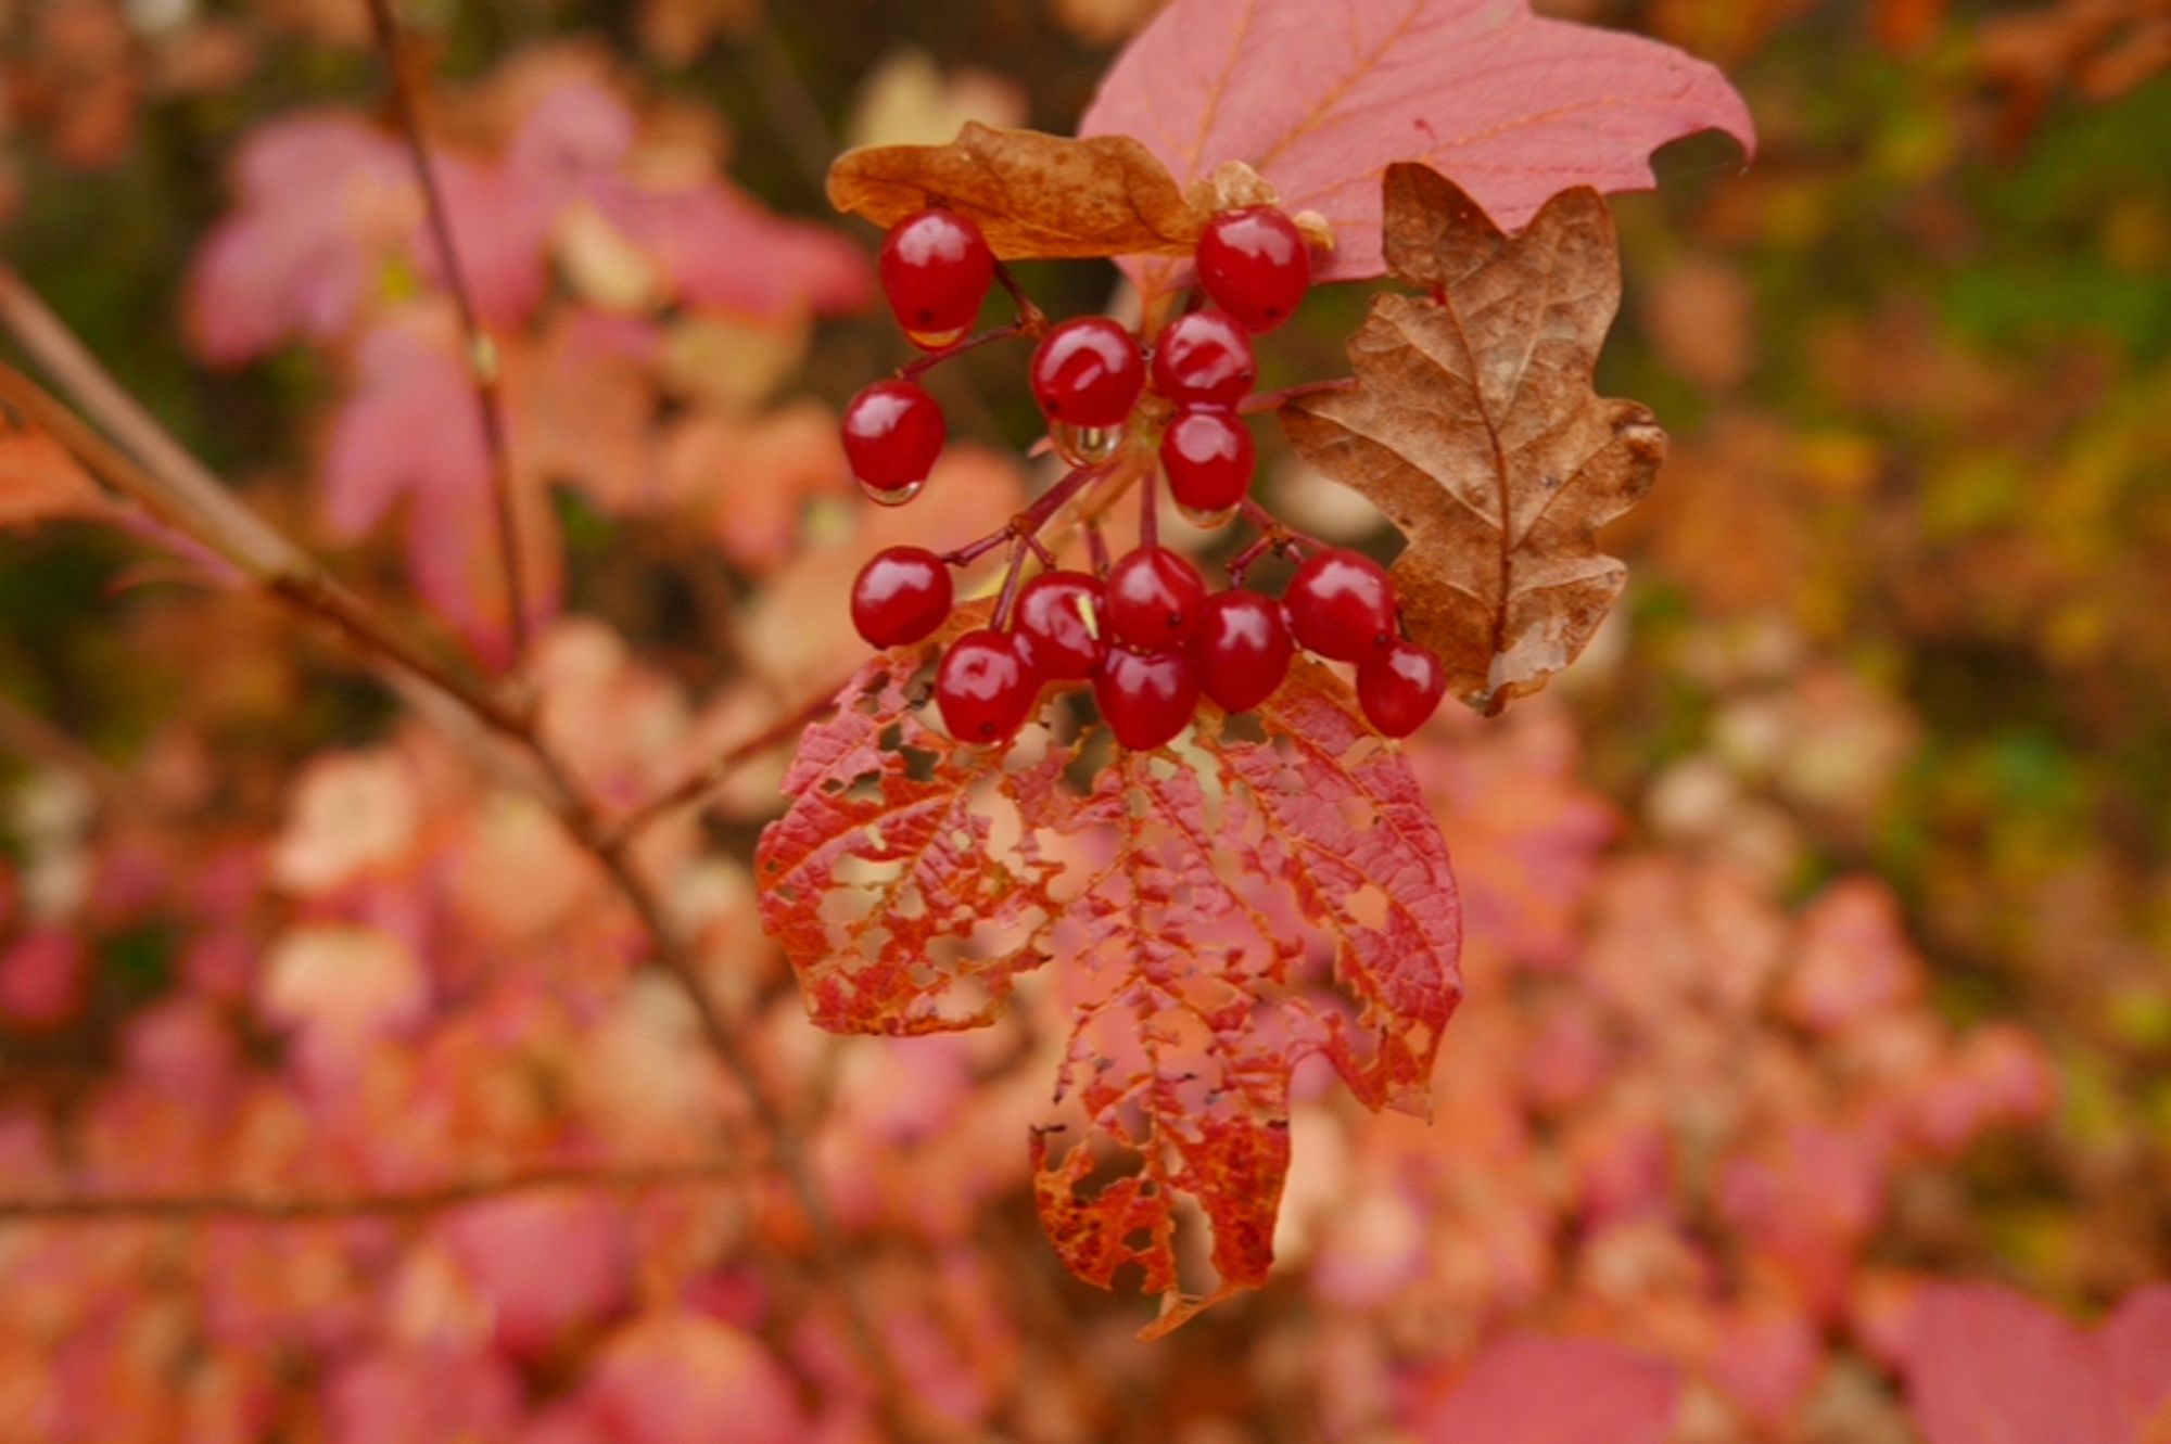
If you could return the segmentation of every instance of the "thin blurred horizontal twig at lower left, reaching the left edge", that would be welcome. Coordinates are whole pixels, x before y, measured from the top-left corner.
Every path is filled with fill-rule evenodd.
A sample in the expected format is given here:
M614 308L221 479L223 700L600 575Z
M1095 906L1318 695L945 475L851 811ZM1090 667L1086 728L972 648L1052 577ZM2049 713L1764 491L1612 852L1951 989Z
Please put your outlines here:
M443 1188L358 1195L265 1195L265 1192L106 1192L63 1199L0 1199L0 1221L96 1223L96 1221L195 1221L195 1219L365 1219L432 1214L462 1203L547 1188L608 1188L640 1192L716 1184L745 1175L740 1160L684 1164L560 1166L504 1177L475 1177Z

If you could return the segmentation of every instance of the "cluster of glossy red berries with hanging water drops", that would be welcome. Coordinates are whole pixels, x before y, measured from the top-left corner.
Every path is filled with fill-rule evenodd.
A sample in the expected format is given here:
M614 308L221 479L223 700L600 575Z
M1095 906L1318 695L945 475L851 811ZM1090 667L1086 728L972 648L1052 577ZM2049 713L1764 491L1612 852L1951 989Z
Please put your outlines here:
M1209 592L1179 553L1153 540L1153 484L1142 486L1144 544L1107 564L1094 533L1094 572L1059 570L1036 531L1081 488L1107 475L1122 427L1159 427L1159 475L1194 520L1220 525L1246 501L1250 429L1240 416L1257 379L1250 338L1296 310L1311 284L1303 232L1272 206L1218 215L1198 241L1207 308L1161 327L1151 356L1107 317L1046 325L1020 297L1020 323L983 338L1033 334L1033 397L1077 468L992 538L936 555L892 546L860 572L853 624L875 646L929 637L951 614L951 566L1010 542L1010 577L990 627L942 655L936 705L953 737L1003 742L1031 715L1046 683L1092 683L1094 702L1127 748L1172 742L1205 696L1248 711L1281 687L1303 646L1357 666L1366 718L1392 735L1415 731L1446 687L1433 653L1402 640L1387 572L1355 551L1298 542L1283 527L1231 562L1231 577L1268 544L1300 555L1281 601L1244 585ZM929 208L881 245L881 284L905 334L929 356L877 382L845 410L845 451L860 486L886 505L918 494L944 442L942 408L912 375L966 345L988 288L1007 275L970 219ZM1144 403L1146 397L1151 403ZM1151 470L1151 468L1148 468ZM1257 510L1253 510L1257 516ZM1038 557L1046 570L1023 581Z

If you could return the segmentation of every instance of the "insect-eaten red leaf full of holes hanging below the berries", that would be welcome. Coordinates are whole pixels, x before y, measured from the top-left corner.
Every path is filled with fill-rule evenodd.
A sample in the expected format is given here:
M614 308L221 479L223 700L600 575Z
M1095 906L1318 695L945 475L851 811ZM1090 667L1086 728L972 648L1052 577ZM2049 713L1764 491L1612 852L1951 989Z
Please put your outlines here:
M1266 1281L1298 1062L1429 1110L1461 997L1446 843L1324 668L1292 672L1264 735L1201 718L1194 746L1116 752L1081 789L1092 735L953 744L914 666L877 659L808 731L760 846L764 921L840 1032L981 1026L1053 963L1040 1216L1081 1279L1135 1266L1166 1333Z

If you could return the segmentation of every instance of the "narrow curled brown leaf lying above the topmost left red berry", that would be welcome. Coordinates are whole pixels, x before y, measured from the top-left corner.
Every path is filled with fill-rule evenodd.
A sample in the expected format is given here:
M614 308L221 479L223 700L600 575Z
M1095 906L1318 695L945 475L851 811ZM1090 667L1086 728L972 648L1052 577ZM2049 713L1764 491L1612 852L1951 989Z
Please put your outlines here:
M849 150L829 167L829 204L875 225L934 202L970 217L1003 260L1188 256L1207 221L1168 167L1120 134L968 124L949 145Z

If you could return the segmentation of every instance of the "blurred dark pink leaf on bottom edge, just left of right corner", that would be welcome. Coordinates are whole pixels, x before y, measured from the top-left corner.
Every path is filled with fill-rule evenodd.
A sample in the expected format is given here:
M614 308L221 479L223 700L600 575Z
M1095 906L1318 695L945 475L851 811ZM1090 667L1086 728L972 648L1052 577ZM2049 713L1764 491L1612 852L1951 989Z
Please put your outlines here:
M1921 1292L1908 1403L1926 1444L2138 1444L2110 1353L2030 1299L1989 1284Z

